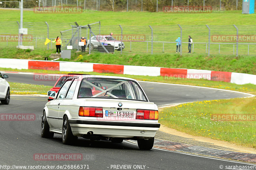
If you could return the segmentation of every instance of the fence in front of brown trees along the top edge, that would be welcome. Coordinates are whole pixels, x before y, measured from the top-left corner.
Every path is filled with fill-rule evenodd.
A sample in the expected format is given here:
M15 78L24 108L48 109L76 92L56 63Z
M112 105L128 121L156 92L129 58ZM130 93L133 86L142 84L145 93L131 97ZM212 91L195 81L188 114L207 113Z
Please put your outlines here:
M20 1L1 1L0 7L19 8ZM163 11L165 6L211 6L213 10L241 10L241 0L24 0L24 8L79 6L96 11ZM255 4L256 5L256 4Z

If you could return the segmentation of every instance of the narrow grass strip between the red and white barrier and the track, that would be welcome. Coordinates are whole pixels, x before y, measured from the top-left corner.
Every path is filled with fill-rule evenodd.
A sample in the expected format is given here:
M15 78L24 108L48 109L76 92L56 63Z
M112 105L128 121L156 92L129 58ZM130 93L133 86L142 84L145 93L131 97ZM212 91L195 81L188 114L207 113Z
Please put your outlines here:
M34 72L34 73L52 73L52 74L68 74L70 72L66 71L54 71L54 70L25 70L25 69L11 69L11 68L1 68L3 71L19 71L19 72ZM171 83L171 84L182 84L182 85L195 85L202 87L212 87L226 90L234 90L238 92L246 92L250 94L256 95L256 85L253 84L245 84L245 85L237 85L234 83L227 82L216 82L210 80L203 79L186 79L186 80L177 80L177 79L164 79L162 76L136 76L136 75L125 75L125 74L114 74L114 73L97 73L97 72L72 72L72 73L83 73L83 74L91 74L91 75L108 75L108 76L121 76L134 78L139 81L150 81L150 82L160 82L160 83ZM8 75L8 74L7 74ZM8 81L8 79L7 79ZM50 88L49 88L50 89Z

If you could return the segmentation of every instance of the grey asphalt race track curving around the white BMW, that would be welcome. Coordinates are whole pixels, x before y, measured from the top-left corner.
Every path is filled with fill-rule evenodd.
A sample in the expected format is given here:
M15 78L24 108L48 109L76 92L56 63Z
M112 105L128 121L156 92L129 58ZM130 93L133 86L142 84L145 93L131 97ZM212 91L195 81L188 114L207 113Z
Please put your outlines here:
M8 74L12 82L12 75ZM28 75L26 75L28 76ZM31 76L31 75L30 75ZM33 83L33 79L27 79L24 75L18 75L20 82ZM17 81L16 81L17 82ZM37 82L38 83L38 82ZM43 82L45 83L45 82ZM54 82L46 82L52 83ZM45 85L46 85L45 83ZM49 84L50 85L50 84ZM248 97L245 94L225 92L195 87L164 84L141 83L149 99L158 105L186 102L187 100L210 100L207 95L215 95L216 98ZM174 88L174 89L172 89ZM188 88L188 89L187 89ZM190 89L191 88L191 89ZM198 89L198 90L197 90ZM197 90L197 91L196 91ZM207 92L208 91L208 92ZM152 92L152 93L150 93ZM179 92L182 92L179 94ZM167 94L168 93L168 94ZM158 95L156 95L158 94ZM195 97L191 97L195 95ZM244 96L245 95L245 96ZM168 96L168 98L165 98ZM180 97L179 97L180 96ZM164 99L167 100L164 102ZM177 101L178 100L178 101ZM24 166L55 166L58 165L88 165L89 169L117 169L114 165L131 165L131 169L170 170L170 169L227 169L226 166L248 166L236 161L213 159L198 155L190 155L179 152L170 152L153 148L150 151L139 150L137 145L124 141L122 144L114 144L109 141L90 141L79 138L75 145L63 145L61 135L55 134L53 139L40 136L41 115L47 97L11 96L9 105L0 104L0 114L35 114L34 121L0 121L0 168L1 165ZM80 161L38 161L34 160L34 154L38 153L81 153ZM143 165L142 168L136 165ZM144 168L145 166L145 168ZM117 166L116 166L117 167ZM135 167L135 168L134 168ZM2 168L3 169L3 168ZM19 168L23 169L23 168ZM69 168L70 169L70 168ZM84 169L84 168L83 168ZM128 169L128 168L120 168ZM230 169L230 168L229 168ZM248 169L248 168L247 168Z

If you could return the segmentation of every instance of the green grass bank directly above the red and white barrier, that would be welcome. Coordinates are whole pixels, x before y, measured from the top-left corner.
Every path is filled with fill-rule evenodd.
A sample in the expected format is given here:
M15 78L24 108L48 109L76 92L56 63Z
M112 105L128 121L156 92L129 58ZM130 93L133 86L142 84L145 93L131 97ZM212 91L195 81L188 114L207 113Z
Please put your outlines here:
M0 48L0 58L16 58L16 59L34 59L44 60L54 50L22 50L17 48ZM80 55L80 56L79 56ZM50 59L50 58L49 58ZM214 71L229 71L240 72L247 74L256 74L256 60L255 56L240 55L197 55L185 54L102 54L86 53L72 50L71 59L62 59L59 61L75 61L75 62L89 62L89 63L106 63L106 64L121 64L121 65L140 65L140 66L154 66L166 68L186 68L186 69L201 69L201 70L214 70Z

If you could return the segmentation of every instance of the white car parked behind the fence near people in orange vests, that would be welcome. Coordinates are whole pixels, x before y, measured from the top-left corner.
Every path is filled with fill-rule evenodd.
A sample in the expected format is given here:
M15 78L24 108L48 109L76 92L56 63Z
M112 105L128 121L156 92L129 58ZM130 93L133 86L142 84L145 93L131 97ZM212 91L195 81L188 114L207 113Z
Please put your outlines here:
M100 42L99 42L99 41ZM91 39L88 41L89 44L91 44L91 50L93 48L98 48L100 46L100 43L103 43L103 45L111 45L114 46L116 50L121 50L121 41L117 41L114 37L110 35L96 35L92 36ZM88 45L89 47L89 45ZM123 47L124 49L124 42L123 42Z

